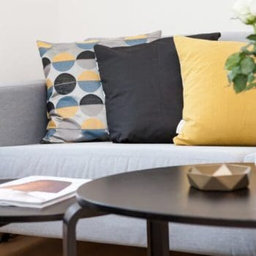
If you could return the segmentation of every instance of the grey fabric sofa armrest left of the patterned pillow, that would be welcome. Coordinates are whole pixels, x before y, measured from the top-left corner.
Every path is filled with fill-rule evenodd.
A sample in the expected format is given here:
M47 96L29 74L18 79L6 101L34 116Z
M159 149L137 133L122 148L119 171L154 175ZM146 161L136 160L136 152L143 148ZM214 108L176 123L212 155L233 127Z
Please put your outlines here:
M44 80L0 84L0 146L39 143L47 125Z

